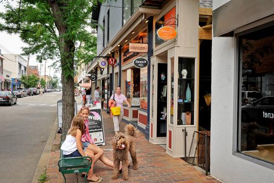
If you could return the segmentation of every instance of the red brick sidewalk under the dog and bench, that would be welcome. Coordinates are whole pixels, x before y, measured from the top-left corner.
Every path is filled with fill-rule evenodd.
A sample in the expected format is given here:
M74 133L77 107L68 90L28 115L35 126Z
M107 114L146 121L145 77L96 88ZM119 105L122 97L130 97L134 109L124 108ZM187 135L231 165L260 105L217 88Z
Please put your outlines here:
M100 146L105 149L105 156L113 159L112 151L110 151L111 142L114 136L114 126L110 115L103 111L104 131L106 145ZM121 129L126 124L121 123ZM123 181L121 174L119 179L112 180L113 169L104 165L100 160L95 163L94 173L104 178L102 183L220 183L211 176L195 169L194 166L186 163L181 158L173 158L165 153L165 149L159 145L153 145L148 142L144 134L140 133L136 139L137 159L139 169L132 169L131 157L129 169L129 180ZM59 149L60 134L56 134L52 151L47 165L47 175L49 177L46 183L64 183L62 174L58 171L58 160L60 156ZM67 174L67 183L76 183L75 174ZM84 178L78 175L79 183L84 183Z

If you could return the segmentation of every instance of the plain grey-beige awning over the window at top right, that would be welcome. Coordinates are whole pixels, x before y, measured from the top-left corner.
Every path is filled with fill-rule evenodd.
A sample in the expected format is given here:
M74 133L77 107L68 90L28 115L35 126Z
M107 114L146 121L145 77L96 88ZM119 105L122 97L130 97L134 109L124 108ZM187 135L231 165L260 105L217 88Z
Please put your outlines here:
M273 10L273 0L230 0L213 10L213 36L233 37L235 29L274 15Z

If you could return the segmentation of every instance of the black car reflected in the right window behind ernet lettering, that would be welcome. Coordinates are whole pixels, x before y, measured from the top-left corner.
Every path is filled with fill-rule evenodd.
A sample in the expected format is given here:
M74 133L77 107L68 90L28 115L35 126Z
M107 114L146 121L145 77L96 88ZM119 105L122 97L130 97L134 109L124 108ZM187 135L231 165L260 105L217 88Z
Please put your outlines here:
M242 106L242 121L265 124L274 120L274 96L263 97L248 105ZM265 124L267 125L267 124Z

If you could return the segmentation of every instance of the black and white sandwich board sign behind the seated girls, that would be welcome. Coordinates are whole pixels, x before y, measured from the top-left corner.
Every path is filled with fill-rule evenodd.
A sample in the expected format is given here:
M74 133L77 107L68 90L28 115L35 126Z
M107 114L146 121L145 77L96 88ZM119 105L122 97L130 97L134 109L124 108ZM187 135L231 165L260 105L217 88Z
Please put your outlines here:
M89 132L95 144L106 145L102 109L97 107L91 107L88 120Z

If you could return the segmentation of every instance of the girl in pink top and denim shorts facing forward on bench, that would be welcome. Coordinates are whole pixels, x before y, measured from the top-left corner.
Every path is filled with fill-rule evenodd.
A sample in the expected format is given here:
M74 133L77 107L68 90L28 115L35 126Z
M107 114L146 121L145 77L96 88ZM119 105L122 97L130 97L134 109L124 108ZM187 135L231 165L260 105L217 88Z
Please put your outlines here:
M100 149L91 138L90 132L89 132L89 114L90 109L87 106L81 107L78 114L82 115L84 118L84 134L82 135L82 143L84 146L84 149L88 149L94 153L94 163L100 159L105 165L114 167L114 163L112 160L108 159L104 156L104 151ZM122 165L120 166L120 170L122 169ZM84 175L84 174L83 174Z

